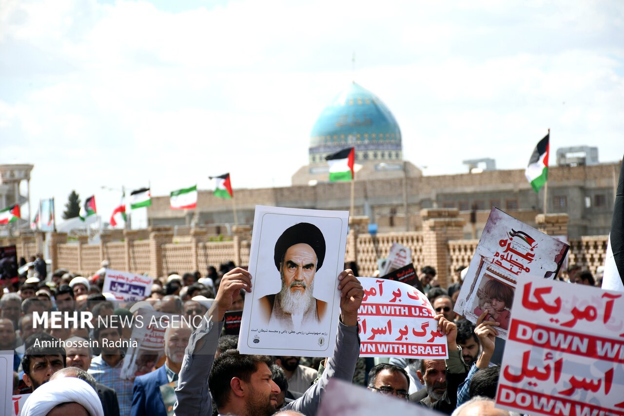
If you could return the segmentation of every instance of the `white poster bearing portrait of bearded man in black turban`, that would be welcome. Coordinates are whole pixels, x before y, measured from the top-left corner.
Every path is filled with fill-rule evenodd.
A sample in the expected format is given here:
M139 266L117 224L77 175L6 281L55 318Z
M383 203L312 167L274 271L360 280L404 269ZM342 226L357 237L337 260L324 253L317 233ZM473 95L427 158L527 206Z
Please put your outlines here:
M331 355L348 219L347 211L256 206L242 354Z

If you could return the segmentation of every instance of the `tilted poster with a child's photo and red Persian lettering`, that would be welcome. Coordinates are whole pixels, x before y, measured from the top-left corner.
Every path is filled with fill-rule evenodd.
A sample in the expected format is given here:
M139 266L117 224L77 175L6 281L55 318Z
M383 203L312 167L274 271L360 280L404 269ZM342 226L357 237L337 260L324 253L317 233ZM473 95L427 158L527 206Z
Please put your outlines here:
M499 338L506 339L514 290L527 276L554 279L569 245L492 207L470 261L454 311L477 322L499 322Z

